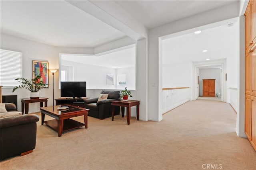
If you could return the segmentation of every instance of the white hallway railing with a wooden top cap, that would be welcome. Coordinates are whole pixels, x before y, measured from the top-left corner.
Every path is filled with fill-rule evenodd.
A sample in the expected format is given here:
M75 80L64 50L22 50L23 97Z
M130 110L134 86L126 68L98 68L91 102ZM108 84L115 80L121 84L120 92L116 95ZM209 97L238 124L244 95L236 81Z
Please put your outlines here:
M190 100L190 88L163 88L163 107L162 114L178 107Z

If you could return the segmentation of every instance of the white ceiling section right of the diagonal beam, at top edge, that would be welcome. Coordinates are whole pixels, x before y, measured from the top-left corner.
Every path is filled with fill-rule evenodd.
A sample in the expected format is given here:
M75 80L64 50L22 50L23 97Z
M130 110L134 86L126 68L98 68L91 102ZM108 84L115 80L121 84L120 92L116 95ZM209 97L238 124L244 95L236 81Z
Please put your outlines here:
M187 18L238 0L117 0L115 1L148 29Z

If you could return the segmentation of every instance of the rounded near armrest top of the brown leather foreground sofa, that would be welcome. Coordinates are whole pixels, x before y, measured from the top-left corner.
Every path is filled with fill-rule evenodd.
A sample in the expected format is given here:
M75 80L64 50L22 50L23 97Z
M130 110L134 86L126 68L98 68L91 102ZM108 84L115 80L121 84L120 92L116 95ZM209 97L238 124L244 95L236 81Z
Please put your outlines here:
M0 119L0 128L4 129L22 124L35 123L37 121L39 121L39 117L36 114L10 116Z

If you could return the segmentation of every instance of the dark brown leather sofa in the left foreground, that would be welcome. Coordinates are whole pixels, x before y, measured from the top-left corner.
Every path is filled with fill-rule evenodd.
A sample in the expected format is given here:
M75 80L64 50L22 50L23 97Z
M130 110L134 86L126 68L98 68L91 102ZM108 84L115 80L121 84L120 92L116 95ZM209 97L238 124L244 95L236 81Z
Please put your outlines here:
M7 111L16 111L16 106L7 103ZM1 160L32 152L36 147L36 114L10 116L0 119Z

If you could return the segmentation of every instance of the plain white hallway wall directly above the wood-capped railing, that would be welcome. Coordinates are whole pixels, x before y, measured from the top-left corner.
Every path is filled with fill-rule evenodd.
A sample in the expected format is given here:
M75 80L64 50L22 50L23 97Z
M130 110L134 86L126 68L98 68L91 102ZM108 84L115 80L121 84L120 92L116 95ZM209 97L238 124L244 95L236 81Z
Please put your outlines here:
M162 88L192 86L192 62L164 64L162 66Z

